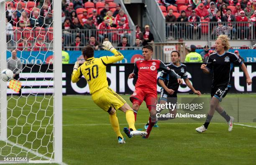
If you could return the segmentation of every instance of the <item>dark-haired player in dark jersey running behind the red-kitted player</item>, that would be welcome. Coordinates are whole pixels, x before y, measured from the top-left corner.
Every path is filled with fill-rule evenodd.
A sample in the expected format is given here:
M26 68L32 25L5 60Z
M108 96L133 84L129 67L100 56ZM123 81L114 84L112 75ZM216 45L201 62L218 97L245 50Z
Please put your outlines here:
M201 96L201 92L194 89L187 77L187 66L180 63L180 54L178 51L172 51L171 53L172 63L167 64L170 69L175 71L182 79L184 79L185 84L198 96ZM159 98L159 104L165 104L166 102L171 104L177 104L177 91L179 89L179 83L175 78L162 71L159 76L159 84L161 85L161 94ZM163 110L163 109L161 109ZM158 111L158 113L161 112ZM158 120L168 120L174 119L177 114L177 109L169 109L169 114L172 114L173 117L167 117L167 114L164 114L165 117L158 117ZM161 115L163 116L163 115ZM170 116L170 115L169 115ZM145 128L148 124L145 125Z

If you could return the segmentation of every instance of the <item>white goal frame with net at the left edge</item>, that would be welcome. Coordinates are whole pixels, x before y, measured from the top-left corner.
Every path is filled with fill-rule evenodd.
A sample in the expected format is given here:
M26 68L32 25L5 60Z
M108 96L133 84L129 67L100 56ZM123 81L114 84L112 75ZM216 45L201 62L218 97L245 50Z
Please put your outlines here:
M6 40L6 25L5 25L5 19L6 19L6 15L5 15L5 5L6 2L10 2L12 0L0 0L0 71L2 71L3 69L7 68L7 51L8 51L8 41ZM21 2L26 3L26 1L20 0ZM34 0L35 1L35 0ZM46 93L43 96L37 96L37 94L34 94L33 91L31 90L31 95L25 95L25 96L15 96L13 94L11 94L10 96L7 96L7 82L4 82L2 80L0 80L0 164L4 163L3 162L3 157L20 157L20 153L22 152L23 154L25 154L26 156L29 157L29 155L33 155L33 159L29 160L29 162L31 163L59 163L59 164L64 164L62 163L62 56L61 56L61 50L62 50L62 43L61 43L61 38L62 38L62 27L61 27L61 0L52 0L52 11L53 11L53 40L52 41L46 41L46 37L44 38L44 42L48 42L49 46L48 46L48 51L50 45L53 46L52 52L53 52L53 57L54 59L53 61L53 69L52 69L52 75L53 77L51 78L51 80L46 79L47 82L49 82L49 84L52 83L53 81L53 85L51 85L49 87L47 87L47 89L49 88L50 90L52 90L52 94L50 96L46 96ZM17 2L15 2L17 3ZM32 27L33 28L33 27ZM35 27L34 27L35 28ZM31 31L32 33L33 31ZM46 30L46 33L49 32ZM34 33L34 32L33 32ZM41 32L40 32L41 33ZM22 37L22 36L21 36ZM34 36L33 36L34 37ZM11 38L12 40L13 38ZM38 38L34 37L32 42L35 42ZM20 41L14 41L15 42L15 46L14 47L18 47L18 42ZM34 48L34 45L32 45L32 48ZM31 48L31 50L32 50ZM41 47L39 48L39 51L41 51ZM9 50L10 52L10 50ZM22 52L22 51L21 51ZM31 53L32 54L32 53ZM32 56L32 55L31 55ZM26 63L25 63L26 64ZM40 64L43 65L43 64ZM40 66L38 64L38 66ZM49 64L48 64L49 65ZM24 64L23 64L24 66ZM41 68L41 67L40 67ZM41 73L41 70L39 71ZM20 74L23 74L23 70L20 72ZM31 69L31 74L34 74L32 72ZM49 73L43 73L43 74L48 74ZM49 77L48 77L49 78ZM44 81L45 79L43 79L42 81ZM26 82L28 80L26 79ZM36 78L35 80L36 81ZM41 81L41 82L42 82ZM25 82L25 80L24 80ZM30 81L32 82L32 81ZM32 85L33 87L33 85ZM41 85L39 86L39 88L41 88ZM45 89L45 88L44 88ZM9 90L9 89L8 89ZM48 94L48 93L47 93ZM53 97L51 97L53 96ZM30 105L28 97L33 97L35 98L35 102ZM41 97L43 101L38 102L37 98ZM10 105L9 103L11 102L11 99L15 99L15 101L17 102L17 106L12 107L12 105ZM31 110L29 109L23 109L23 107L18 105L19 101L25 100L23 107L31 107ZM41 106L45 106L44 104L44 100L49 101L49 105L46 105L46 108L41 109ZM51 105L51 102L52 104ZM38 110L33 109L33 105L34 104L39 104L38 106ZM20 110L17 110L20 109ZM50 110L49 110L50 109ZM52 110L53 109L53 110ZM47 112L51 111L51 114L48 114L49 116L47 116ZM17 113L18 111L20 111L20 116L16 117L13 116L13 114ZM43 111L46 116L41 116L41 120L38 119L38 116L40 111ZM8 113L9 112L9 113ZM23 112L28 112L27 114L23 114ZM31 114L33 114L35 116L35 119L31 118ZM27 116L26 116L27 115ZM41 113L42 115L42 113ZM23 118L22 118L23 117ZM20 124L19 119L22 118L24 119L23 124ZM52 119L53 118L53 119ZM35 127L33 126L33 124L35 123L40 123L41 124L44 121L44 119L48 119L49 123L47 123L46 125L35 125ZM9 122L10 120L10 122ZM13 122L13 121L16 121ZM30 121L32 120L32 121ZM10 124L11 123L11 124ZM15 129L15 128L20 128L20 134L19 132L17 132L17 130L19 129ZM24 128L26 127L31 127L31 130L28 130L28 133L24 133ZM52 131L48 132L48 128L51 128ZM11 129L11 133L10 133L10 129ZM45 135L39 135L42 134L42 132L44 131L46 132L46 136ZM31 136L34 134L35 137L34 139L31 140ZM26 140L28 141L24 141L24 140L19 140L18 138L21 136L25 136ZM38 137L40 136L40 137ZM12 140L13 137L15 137L15 140ZM45 137L49 137L49 142L47 144L43 144L43 140ZM29 139L30 138L30 139ZM53 140L51 140L53 139ZM41 144L40 144L40 140L41 140ZM39 141L39 142L38 142ZM27 144L31 144L31 145L27 145ZM38 148L35 148L34 143L38 143L36 145L39 145ZM6 144L6 145L5 145ZM49 144L50 147L53 151L48 151L49 150ZM8 150L10 150L10 153L7 153ZM17 152L13 151L13 150L17 150ZM46 153L40 153L40 150L46 150ZM20 152L19 152L20 151ZM5 152L5 153L4 153ZM51 156L48 156L48 155ZM12 162L13 163L13 162Z

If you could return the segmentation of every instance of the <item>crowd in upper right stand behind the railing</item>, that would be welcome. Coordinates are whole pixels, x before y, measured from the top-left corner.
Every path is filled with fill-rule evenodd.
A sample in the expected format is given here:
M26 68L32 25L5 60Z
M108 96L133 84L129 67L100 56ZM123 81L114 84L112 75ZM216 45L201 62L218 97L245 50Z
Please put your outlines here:
M171 33L174 39L194 39L194 34L197 39L200 39L201 33L210 33L212 38L226 34L238 40L246 40L255 36L256 0L156 1L168 22L166 24L167 37L170 37ZM210 32L208 31L209 22ZM253 36L250 30L253 30Z

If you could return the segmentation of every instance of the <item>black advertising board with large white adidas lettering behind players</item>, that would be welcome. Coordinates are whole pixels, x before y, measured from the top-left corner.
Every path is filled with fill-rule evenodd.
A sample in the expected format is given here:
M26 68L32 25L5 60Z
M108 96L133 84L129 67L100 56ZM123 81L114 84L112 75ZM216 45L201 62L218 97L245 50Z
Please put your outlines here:
M256 63L245 63L248 74L253 83L247 86L246 78L239 66L233 69L233 75L230 77L231 89L229 93L240 92L256 92ZM186 63L187 75L189 81L195 89L202 93L210 93L212 74L203 74L200 66L201 63ZM137 79L128 79L128 75L133 72L133 63L116 63L107 66L107 80L110 88L119 94L132 94L135 89ZM154 69L154 68L145 68ZM40 72L39 72L40 71ZM53 92L53 73L52 65L43 64L27 65L20 74L20 82L22 86L22 94L51 94ZM84 79L84 76L77 82L71 82L71 74L73 64L64 64L62 66L62 92L63 94L89 94L89 86ZM38 73L39 72L39 73ZM158 76L160 76L160 71ZM61 85L61 84L59 84ZM157 85L157 91L160 92L161 87ZM183 81L179 87L179 93L192 93L189 87ZM14 91L8 89L8 94L15 94Z

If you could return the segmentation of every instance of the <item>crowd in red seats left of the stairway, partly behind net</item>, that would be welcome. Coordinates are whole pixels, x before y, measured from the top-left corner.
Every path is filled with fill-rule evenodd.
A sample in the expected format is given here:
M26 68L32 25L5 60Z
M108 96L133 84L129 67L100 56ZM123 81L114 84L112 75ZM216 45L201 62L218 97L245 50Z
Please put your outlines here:
M6 11L8 43L13 45L14 41L18 41L19 50L26 48L37 51L40 46L44 47L41 50L47 50L47 45L41 41L53 39L52 0L13 0L6 4ZM116 42L120 47L131 45L128 16L121 5L113 0L62 0L61 16L65 50L81 50L77 46L85 45L98 50L100 43L106 40ZM31 31L34 33L31 34ZM136 26L136 36L133 38L136 38L133 47L154 42L149 25L145 26L143 32L140 26ZM31 48L33 43L36 46Z

